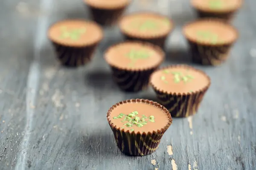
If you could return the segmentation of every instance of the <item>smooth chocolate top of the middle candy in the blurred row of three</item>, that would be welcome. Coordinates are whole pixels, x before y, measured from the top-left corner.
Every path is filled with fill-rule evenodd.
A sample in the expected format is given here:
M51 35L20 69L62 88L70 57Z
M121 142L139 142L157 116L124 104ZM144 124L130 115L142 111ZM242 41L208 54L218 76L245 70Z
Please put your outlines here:
M135 37L166 36L173 23L168 17L154 13L137 13L122 18L119 26L123 32Z

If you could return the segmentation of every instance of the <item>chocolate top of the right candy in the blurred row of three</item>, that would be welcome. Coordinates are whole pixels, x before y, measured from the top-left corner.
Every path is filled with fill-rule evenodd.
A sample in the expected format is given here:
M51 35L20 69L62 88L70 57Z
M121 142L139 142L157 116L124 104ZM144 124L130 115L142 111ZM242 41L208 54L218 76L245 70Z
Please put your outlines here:
M238 33L232 26L219 20L198 20L183 27L183 34L189 40L206 44L232 43Z

